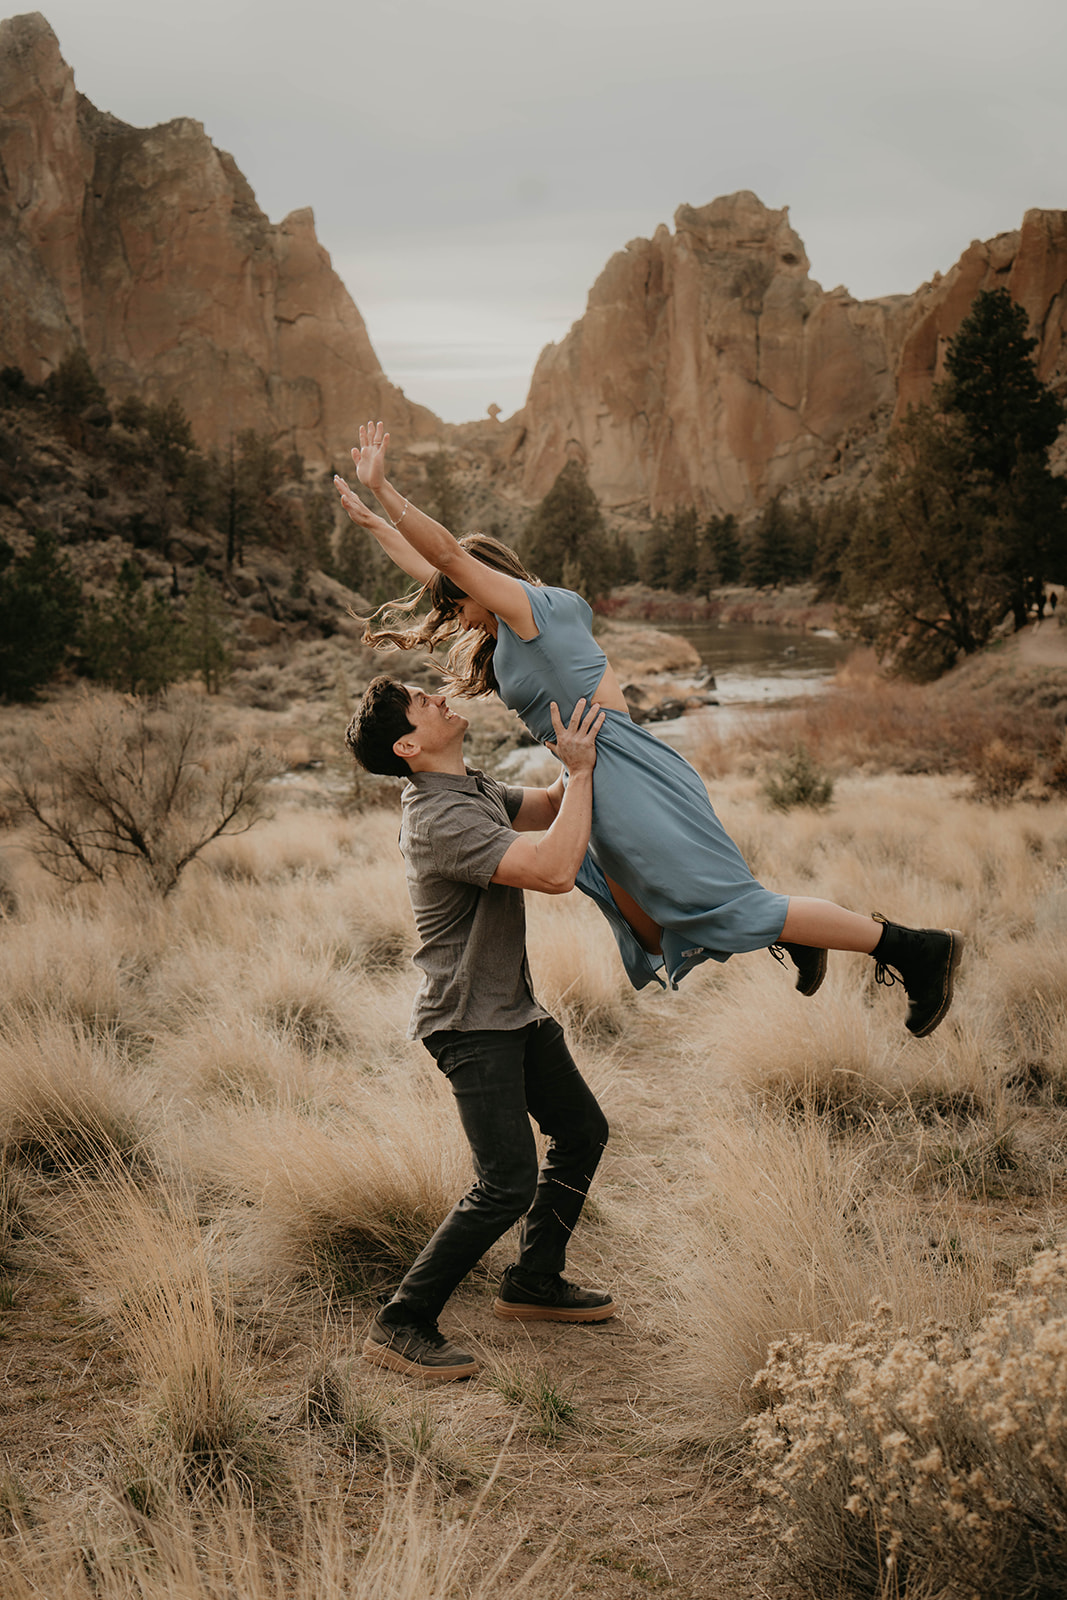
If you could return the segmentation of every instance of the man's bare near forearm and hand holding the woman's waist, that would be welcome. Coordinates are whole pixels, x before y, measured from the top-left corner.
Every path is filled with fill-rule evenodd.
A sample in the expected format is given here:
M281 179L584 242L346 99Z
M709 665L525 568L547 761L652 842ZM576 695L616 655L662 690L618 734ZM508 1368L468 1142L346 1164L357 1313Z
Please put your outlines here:
M561 800L547 834L541 838L517 838L514 845L509 845L493 874L493 883L507 883L518 890L539 890L542 894L566 894L574 888L593 819L593 766L597 763L597 734L603 720L605 714L598 706L590 706L585 710L585 701L581 699L565 728L560 710L555 701L552 702L557 755L569 773L569 782L566 789L563 789L561 781L558 784ZM557 784L552 789L534 789L523 795L517 821L528 805L537 810L552 805L549 797L555 789ZM537 794L544 800L531 802L530 797Z

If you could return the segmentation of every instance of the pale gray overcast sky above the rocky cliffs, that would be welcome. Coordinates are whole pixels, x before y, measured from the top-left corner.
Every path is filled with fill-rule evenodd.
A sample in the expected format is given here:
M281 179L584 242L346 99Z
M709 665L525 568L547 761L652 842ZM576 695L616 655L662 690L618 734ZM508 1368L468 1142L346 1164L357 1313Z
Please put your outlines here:
M310 205L389 376L523 403L608 256L680 203L790 206L813 277L909 293L1067 206L1065 0L45 0L83 94L195 117Z

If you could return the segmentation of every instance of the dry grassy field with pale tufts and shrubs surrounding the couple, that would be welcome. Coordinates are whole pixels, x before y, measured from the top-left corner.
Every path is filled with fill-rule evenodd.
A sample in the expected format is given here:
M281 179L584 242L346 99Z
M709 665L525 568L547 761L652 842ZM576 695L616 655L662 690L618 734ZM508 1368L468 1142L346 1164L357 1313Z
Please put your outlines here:
M307 765L326 712L213 714L285 771L166 894L136 861L59 883L5 811L5 1600L1067 1592L1059 752L1033 723L1014 802L979 803L1017 718L848 704L699 760L768 886L963 930L950 1018L912 1040L848 955L813 1000L765 952L633 995L587 902L531 896L613 1128L569 1272L621 1312L496 1322L506 1238L443 1317L470 1384L358 1354L469 1157L405 1038L395 803ZM85 720L5 714L5 765L46 776ZM768 805L797 744L827 810Z

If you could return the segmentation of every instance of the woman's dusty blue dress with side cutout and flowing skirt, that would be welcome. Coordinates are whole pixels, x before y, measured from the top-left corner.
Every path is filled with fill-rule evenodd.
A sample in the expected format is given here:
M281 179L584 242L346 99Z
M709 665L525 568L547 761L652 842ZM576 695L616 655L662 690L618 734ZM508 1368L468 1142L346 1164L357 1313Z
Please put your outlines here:
M549 702L566 722L576 701L592 701L608 658L581 595L523 589L537 635L518 638L501 619L493 670L504 704L545 742L553 738ZM640 946L605 878L659 923L662 958ZM635 989L662 984L662 971L675 987L701 962L766 949L781 938L789 909L784 894L752 877L685 757L617 710L606 712L597 736L593 826L577 886L611 923Z

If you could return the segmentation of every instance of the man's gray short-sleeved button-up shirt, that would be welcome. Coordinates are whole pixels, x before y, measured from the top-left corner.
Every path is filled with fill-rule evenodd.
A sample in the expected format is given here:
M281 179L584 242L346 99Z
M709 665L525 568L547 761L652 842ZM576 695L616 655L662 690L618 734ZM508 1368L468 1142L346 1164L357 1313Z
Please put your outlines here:
M400 850L419 934L411 1038L515 1029L549 1013L533 997L523 891L493 883L515 843L522 789L469 771L414 773L400 797Z

